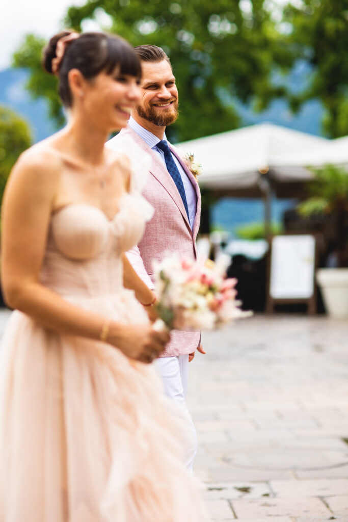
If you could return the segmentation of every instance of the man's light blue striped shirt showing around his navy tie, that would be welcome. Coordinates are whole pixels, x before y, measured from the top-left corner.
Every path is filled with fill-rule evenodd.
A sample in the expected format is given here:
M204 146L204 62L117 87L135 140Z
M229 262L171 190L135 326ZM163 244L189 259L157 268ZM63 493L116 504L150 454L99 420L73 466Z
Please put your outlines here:
M147 129L143 128L141 125L139 125L134 118L130 116L128 125L131 129L133 129L134 132L137 133L140 138L142 138L145 143L148 144L149 147L151 147L154 152L157 153L157 155L161 158L161 161L165 165L165 159L164 159L164 152L163 150L159 149L157 147L157 144L161 141L160 138L152 134L150 131L147 131ZM167 138L164 134L163 140L167 141ZM176 167L181 175L181 179L183 180L186 200L187 200L187 207L188 207L188 220L190 223L191 229L194 226L194 221L196 217L196 209L197 209L197 195L195 188L193 187L192 183L187 177L186 172L184 171L183 167L181 166L179 160L176 158L174 154L172 154L173 160L175 161Z

